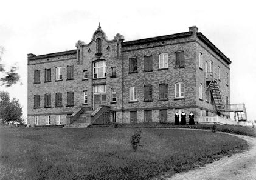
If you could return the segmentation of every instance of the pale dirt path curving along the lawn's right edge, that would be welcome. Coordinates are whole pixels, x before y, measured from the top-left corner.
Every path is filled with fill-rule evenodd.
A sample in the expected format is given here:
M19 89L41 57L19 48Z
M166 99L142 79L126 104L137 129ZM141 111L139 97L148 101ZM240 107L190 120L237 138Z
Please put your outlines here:
M196 179L196 180L221 180L221 179L256 179L256 138L248 136L238 136L246 140L249 144L249 151L224 157L219 161L208 164L205 167L200 167L196 170L180 173L168 178L168 175L162 177L165 180L180 180L180 179Z

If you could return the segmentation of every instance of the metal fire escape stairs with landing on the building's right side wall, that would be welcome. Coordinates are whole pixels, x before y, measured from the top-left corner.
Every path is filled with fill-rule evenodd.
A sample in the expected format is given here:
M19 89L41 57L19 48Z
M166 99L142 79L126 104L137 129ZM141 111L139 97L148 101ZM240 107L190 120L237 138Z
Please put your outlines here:
M238 121L246 121L246 108L244 104L224 104L223 96L218 85L218 79L215 78L212 72L206 73L206 85L210 93L212 93L216 111L221 113L234 112L237 115Z

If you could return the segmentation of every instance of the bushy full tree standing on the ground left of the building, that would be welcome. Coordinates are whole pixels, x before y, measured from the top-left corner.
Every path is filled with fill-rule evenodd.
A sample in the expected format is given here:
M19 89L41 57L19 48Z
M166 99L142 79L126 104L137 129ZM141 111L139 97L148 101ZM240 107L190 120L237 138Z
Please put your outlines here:
M22 107L19 99L13 98L10 101L8 92L0 92L0 119L2 122L17 121L21 122Z

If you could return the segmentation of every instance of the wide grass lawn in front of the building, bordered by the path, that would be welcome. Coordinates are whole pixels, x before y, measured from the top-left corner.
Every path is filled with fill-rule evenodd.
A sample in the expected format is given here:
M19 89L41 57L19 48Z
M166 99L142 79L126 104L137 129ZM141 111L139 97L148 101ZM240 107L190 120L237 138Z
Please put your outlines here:
M195 130L0 128L0 179L150 179L247 149L243 139Z

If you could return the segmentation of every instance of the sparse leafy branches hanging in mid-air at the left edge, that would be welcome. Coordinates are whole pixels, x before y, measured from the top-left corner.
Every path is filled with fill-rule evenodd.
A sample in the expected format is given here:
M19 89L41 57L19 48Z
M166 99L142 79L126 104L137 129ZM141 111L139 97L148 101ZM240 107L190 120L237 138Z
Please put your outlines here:
M12 66L9 71L5 70L4 64L1 64L2 55L4 54L4 47L0 46L0 86L5 85L5 87L10 87L13 84L16 84L19 81L19 74L16 73L18 67Z

